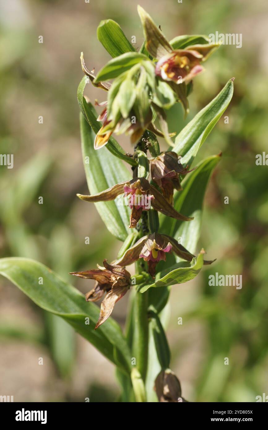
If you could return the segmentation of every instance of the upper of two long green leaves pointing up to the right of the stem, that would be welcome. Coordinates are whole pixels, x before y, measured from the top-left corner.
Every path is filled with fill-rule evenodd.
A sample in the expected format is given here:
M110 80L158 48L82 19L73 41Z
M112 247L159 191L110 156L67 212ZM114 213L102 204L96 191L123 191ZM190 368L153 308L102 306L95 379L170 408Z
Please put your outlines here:
M176 136L172 151L182 156L182 164L191 165L197 151L227 108L234 91L233 81L234 78L230 79L222 91Z

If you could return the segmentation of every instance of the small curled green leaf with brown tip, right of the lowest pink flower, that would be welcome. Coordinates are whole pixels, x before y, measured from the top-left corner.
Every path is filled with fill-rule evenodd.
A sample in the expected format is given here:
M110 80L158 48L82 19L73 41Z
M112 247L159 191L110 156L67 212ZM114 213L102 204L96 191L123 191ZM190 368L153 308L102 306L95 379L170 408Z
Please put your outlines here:
M190 266L186 264L188 263L177 263L166 270L158 272L155 276L155 282L142 287L140 292L143 293L151 287L166 287L194 279L203 267L203 253L200 252L197 257L193 258Z

